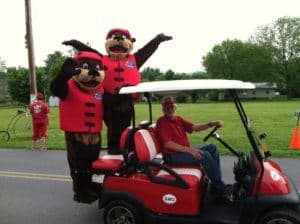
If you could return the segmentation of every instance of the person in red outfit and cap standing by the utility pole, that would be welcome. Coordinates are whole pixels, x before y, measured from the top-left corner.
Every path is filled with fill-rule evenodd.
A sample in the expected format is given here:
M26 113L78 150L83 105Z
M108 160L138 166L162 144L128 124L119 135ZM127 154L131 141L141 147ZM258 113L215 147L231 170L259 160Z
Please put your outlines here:
M47 104L43 102L44 95L37 94L37 100L30 105L30 113L33 122L33 135L32 135L32 150L36 148L37 140L40 140L40 150L46 150L46 133L48 127L48 114L50 112Z

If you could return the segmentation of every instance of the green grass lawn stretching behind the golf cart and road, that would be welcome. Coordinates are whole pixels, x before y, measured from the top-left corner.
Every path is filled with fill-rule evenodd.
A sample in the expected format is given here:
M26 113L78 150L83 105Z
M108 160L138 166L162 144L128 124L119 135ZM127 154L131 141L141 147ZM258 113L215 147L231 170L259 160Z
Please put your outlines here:
M293 133L296 119L294 112L300 110L300 101L284 102L245 102L243 103L247 115L252 120L252 125L257 133L266 133L265 143L275 156L300 156L300 150L290 150L289 143ZM59 129L58 108L50 108L50 126L48 129L47 145L49 149L64 149L64 135ZM136 106L137 120L148 119L148 107L146 104ZM0 108L0 130L6 129L10 117L16 113L16 108ZM240 122L240 118L231 102L201 103L201 104L178 104L177 113L187 119L196 122L206 122L220 119L225 122L225 126L219 131L221 137L234 148L246 151L250 148L245 131ZM156 120L161 115L161 107L153 105L153 119ZM193 145L203 144L202 139L208 132L195 133L190 136ZM12 136L6 142L0 140L0 148L30 148L31 132L23 134L22 138ZM106 145L105 130L102 135L103 145ZM215 140L211 142L216 143ZM219 145L222 154L229 154L227 150Z

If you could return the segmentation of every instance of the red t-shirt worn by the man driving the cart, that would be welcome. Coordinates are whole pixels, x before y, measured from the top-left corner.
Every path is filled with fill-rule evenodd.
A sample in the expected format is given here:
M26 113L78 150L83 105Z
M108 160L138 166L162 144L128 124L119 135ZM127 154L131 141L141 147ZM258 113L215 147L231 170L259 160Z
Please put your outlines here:
M164 154L174 154L176 151L164 148L163 143L173 141L179 145L190 147L190 141L187 132L193 132L193 123L185 120L180 116L174 116L167 119L165 116L160 117L156 122L157 136L159 138L162 152Z

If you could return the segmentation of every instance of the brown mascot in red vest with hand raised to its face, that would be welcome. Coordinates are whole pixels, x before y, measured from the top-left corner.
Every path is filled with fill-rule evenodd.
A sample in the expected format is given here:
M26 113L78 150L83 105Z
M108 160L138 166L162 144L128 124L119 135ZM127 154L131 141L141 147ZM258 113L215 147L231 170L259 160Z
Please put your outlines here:
M60 128L65 132L77 202L91 203L99 197L90 171L101 148L103 79L102 58L94 52L83 51L66 59L50 86L60 99Z

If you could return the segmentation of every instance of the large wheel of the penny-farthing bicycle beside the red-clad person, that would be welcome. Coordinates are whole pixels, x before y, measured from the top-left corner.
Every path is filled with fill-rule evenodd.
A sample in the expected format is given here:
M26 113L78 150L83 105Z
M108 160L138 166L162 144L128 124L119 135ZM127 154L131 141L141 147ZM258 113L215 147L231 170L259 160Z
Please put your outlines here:
M15 119L12 126L13 134L16 138L31 138L32 136L32 121L31 116L25 113L20 114Z

